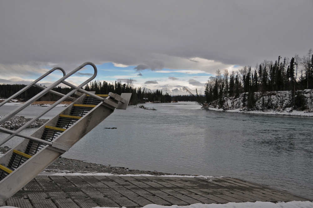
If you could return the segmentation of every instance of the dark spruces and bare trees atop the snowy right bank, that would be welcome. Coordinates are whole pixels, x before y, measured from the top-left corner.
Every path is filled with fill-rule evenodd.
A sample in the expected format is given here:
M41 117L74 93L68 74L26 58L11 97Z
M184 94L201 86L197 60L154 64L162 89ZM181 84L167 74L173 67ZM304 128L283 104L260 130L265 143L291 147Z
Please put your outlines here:
M204 97L198 96L197 101L201 105L218 101L218 106L222 107L227 97L236 98L245 93L248 109L251 109L256 100L255 92L262 94L269 91L292 91L291 95L296 97L294 100L298 101L296 103L298 107L304 108L305 103L299 91L312 88L313 50L309 49L302 58L295 55L289 60L278 56L275 61L264 60L253 70L251 66L244 66L238 71L232 71L231 74L227 69L223 72L217 70L216 76L210 77L206 83Z

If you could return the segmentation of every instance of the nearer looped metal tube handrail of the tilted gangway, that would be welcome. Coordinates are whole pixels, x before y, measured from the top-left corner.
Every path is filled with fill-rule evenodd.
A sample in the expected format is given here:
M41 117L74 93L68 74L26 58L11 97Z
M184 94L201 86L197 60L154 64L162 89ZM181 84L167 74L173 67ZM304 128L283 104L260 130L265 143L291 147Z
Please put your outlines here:
M74 73L76 73L77 71L81 70L83 67L85 67L86 65L91 65L94 68L94 74L87 79L86 81L84 81L83 83L81 83L79 86L75 86L72 85L66 81L64 81L65 79L67 79L68 77L70 77L71 75L73 75ZM84 64L80 65L79 67L77 67L76 69L74 69L73 71L71 71L69 74L64 75L61 79L59 79L58 81L54 82L52 85L50 85L49 87L47 87L46 89L44 89L43 91L41 91L40 93L38 93L36 96L34 96L33 98L31 98L30 100L26 101L23 105L21 105L20 107L16 108L15 110L13 110L12 112L8 113L6 116L2 117L0 119L0 124L7 121L9 118L13 117L15 114L17 114L18 112L22 111L24 108L26 108L28 105L30 105L34 100L37 100L38 98L40 98L41 96L43 96L45 93L49 92L52 88L54 88L55 86L59 85L60 83L64 83L68 86L71 86L72 88L74 88L72 91L70 91L69 93L67 93L66 95L64 95L62 98L60 98L58 101L56 101L54 104L52 104L50 107L48 107L44 112L39 113L36 117L32 118L30 121L28 121L27 123L25 123L23 126L21 126L20 128L18 128L16 131L11 131L8 130L6 128L0 127L0 131L3 131L5 133L9 133L11 134L10 136L8 136L7 138L5 138L3 141L1 141L0 146L3 145L4 143L6 143L8 140L10 140L11 138L13 138L14 136L19 136L19 137L23 137L23 138L27 138L27 139L32 139L32 140L36 140L45 144L50 144L49 142L43 140L43 139L39 139L39 138L35 138L33 139L32 137L29 136L25 136L25 135L21 135L19 134L24 128L28 127L31 123L33 123L34 121L36 121L38 118L42 117L44 114L46 114L47 112L49 112L52 108L54 108L55 106L57 106L59 103L61 103L62 101L64 101L65 99L67 99L70 95L74 94L76 91L81 91L81 92L87 92L83 89L80 89L81 87L85 86L88 82L90 82L91 80L93 80L97 75L97 67L95 64L91 63L91 62L85 62ZM101 101L103 101L104 99L102 97L99 96L95 96L94 94L87 92L86 94L93 96ZM98 98L99 97L99 98ZM51 144L50 144L51 145Z

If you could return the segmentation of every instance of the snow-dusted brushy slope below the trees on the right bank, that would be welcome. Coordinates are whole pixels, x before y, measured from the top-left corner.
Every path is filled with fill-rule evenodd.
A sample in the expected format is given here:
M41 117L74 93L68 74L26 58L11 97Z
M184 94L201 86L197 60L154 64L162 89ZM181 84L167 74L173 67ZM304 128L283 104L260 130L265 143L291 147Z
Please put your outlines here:
M313 116L313 90L248 92L229 96L223 101L203 104L204 109L274 115Z

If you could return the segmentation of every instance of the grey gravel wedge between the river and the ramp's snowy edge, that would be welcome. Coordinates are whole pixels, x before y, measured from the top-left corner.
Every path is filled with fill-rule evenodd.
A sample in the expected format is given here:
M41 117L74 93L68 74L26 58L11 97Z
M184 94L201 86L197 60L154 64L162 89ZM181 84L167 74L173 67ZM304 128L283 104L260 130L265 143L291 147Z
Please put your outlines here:
M0 147L0 154L6 153L11 148ZM158 171L145 171L129 169L126 167L113 167L97 163L88 163L81 160L59 157L42 173L110 173L110 174L150 174L150 175L173 175ZM177 174L178 175L178 174Z

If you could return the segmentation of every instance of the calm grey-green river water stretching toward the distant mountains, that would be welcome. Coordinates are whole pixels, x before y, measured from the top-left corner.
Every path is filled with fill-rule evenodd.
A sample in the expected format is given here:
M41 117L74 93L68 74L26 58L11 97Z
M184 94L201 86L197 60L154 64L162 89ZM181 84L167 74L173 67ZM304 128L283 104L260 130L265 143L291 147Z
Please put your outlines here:
M313 198L312 117L207 111L193 102L145 106L157 111L115 110L64 156L131 169L236 177ZM1 107L0 115L13 108ZM43 108L29 107L20 115L31 117Z

